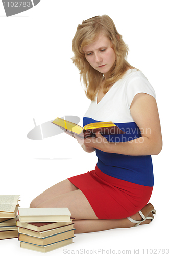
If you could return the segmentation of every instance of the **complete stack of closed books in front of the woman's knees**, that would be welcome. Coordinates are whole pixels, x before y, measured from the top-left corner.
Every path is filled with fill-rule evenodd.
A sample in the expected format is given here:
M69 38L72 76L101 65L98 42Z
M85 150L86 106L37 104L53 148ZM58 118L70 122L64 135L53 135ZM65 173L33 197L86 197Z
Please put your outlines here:
M68 208L20 208L20 247L48 252L73 243L74 223Z

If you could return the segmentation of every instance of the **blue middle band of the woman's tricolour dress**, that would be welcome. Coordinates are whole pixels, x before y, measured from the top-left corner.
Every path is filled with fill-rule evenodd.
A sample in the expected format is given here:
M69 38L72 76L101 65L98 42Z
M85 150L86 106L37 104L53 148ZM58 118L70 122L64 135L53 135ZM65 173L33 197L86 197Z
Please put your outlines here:
M98 122L84 117L83 126ZM141 137L140 130L135 122L115 123L126 134L105 136L110 142L125 142ZM151 156L129 156L123 154L106 153L96 150L98 168L112 177L126 180L144 186L154 185L153 166Z

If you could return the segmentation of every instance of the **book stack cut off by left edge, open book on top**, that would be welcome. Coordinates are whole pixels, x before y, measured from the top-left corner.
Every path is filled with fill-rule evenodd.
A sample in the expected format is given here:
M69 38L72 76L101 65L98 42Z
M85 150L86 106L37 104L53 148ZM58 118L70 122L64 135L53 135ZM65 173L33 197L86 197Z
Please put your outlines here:
M20 195L0 195L0 239L17 238L18 201Z

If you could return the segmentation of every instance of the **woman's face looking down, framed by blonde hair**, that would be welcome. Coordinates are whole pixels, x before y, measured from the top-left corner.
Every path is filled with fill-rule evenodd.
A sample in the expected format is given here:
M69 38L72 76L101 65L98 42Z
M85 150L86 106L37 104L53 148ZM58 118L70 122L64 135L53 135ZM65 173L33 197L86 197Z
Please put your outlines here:
M116 60L111 41L102 33L95 42L83 47L83 51L91 67L104 75L111 69Z

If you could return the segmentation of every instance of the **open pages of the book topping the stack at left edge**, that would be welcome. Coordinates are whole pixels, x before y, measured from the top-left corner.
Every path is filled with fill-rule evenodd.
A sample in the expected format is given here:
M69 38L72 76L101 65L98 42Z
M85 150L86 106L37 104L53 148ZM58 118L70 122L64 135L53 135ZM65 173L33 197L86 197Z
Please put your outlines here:
M14 212L20 195L0 195L0 211Z

